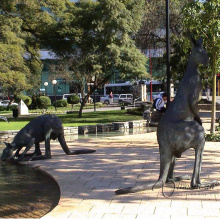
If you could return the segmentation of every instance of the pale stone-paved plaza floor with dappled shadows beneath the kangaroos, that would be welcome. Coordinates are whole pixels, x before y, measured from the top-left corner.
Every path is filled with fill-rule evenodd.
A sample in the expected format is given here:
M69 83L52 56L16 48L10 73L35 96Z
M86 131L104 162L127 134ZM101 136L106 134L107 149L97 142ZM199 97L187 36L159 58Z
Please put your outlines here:
M209 127L208 125L204 127ZM58 142L51 144L53 158L27 162L49 173L59 184L58 206L43 219L219 219L220 186L188 189L190 181L172 188L115 195L121 187L155 182L159 175L156 132L69 141L71 149L96 149L93 154L67 156ZM220 144L207 142L201 180L220 179ZM192 175L194 152L189 150L176 163L175 174Z

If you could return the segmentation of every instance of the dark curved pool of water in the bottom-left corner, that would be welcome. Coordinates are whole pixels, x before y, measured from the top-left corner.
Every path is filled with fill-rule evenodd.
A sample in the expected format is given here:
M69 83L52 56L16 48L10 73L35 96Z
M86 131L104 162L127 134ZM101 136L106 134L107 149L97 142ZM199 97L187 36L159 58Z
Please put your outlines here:
M60 191L43 172L1 161L0 195L0 218L40 218L58 204Z

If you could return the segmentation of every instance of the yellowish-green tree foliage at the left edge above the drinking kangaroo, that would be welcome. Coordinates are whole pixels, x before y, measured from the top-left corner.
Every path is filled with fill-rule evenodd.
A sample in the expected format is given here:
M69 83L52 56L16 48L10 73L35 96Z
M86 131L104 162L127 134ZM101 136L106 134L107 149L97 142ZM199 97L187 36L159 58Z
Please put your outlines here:
M19 94L38 88L42 63L39 50L49 45L68 0L1 0L0 83ZM54 39L54 38L53 38Z

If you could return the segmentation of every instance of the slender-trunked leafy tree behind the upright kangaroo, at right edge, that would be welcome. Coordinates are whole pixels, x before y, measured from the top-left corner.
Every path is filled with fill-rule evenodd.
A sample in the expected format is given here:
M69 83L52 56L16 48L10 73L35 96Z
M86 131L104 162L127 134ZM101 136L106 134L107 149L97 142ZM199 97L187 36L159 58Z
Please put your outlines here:
M216 74L220 70L220 1L194 1L183 10L184 32L204 38L204 45L210 55L212 71L212 117L211 133L215 133L216 117Z

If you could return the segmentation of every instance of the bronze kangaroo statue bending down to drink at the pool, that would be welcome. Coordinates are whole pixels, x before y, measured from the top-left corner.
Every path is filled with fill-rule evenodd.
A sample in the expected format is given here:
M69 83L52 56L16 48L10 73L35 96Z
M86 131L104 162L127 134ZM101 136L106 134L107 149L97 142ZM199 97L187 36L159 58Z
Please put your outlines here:
M35 151L30 154L31 160L42 160L51 158L50 140L57 139L61 147L67 155L74 154L87 154L93 153L95 150L75 150L71 151L65 141L64 131L61 120L55 115L42 115L30 121L23 127L14 137L13 142L5 143L6 148L3 150L1 159L3 161L13 157L13 151L16 150L14 155L15 160L22 161L26 153L35 144ZM45 155L41 154L40 142L45 141ZM22 154L20 150L25 147Z

